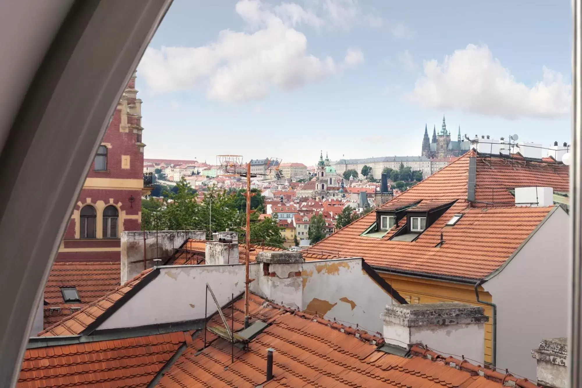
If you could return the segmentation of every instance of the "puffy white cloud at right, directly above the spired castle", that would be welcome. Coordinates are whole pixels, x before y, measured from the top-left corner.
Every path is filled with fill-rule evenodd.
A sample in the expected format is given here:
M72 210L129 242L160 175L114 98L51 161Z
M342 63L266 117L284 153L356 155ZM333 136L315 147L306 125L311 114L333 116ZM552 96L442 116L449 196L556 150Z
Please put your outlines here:
M408 98L423 107L508 119L568 115L572 85L545 66L542 72L542 80L528 87L517 82L486 45L469 44L445 57L442 64L425 61L424 76Z

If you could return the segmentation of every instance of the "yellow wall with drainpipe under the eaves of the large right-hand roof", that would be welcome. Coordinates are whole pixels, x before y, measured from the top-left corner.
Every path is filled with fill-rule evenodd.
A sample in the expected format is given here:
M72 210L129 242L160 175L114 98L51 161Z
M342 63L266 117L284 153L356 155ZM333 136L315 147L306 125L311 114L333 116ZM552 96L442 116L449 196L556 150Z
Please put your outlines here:
M485 323L485 362L491 362L492 308L477 303L474 285L383 272L379 275L409 303L461 302L484 308L485 314L489 316L489 322ZM479 298L482 301L492 302L491 295L482 287L479 287ZM446 352L446 349L438 350Z

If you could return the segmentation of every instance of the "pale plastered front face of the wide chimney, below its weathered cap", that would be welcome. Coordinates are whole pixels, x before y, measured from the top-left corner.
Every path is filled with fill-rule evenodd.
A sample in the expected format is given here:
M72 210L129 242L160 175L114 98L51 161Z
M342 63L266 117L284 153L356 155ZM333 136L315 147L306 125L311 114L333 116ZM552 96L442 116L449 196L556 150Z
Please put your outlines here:
M435 349L437 353L464 355L481 365L485 356L485 343L482 341L484 336L485 324L483 323L410 328L410 343L422 343Z

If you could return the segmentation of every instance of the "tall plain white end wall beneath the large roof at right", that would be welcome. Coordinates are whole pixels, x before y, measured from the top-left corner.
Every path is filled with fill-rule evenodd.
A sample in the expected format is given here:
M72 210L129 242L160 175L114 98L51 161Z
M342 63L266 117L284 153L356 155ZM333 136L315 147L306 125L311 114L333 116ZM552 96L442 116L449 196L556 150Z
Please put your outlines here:
M535 381L531 350L566 337L569 219L558 207L507 266L487 283L497 305L497 366Z

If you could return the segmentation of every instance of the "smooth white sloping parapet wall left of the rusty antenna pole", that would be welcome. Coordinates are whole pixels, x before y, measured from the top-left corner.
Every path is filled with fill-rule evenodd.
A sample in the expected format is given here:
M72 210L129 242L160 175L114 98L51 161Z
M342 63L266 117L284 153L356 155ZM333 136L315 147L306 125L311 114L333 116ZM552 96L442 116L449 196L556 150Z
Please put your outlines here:
M257 264L255 264L257 265ZM113 313L98 330L204 318L206 283L223 306L244 291L244 265L160 267L158 277ZM208 316L217 311L208 293Z

